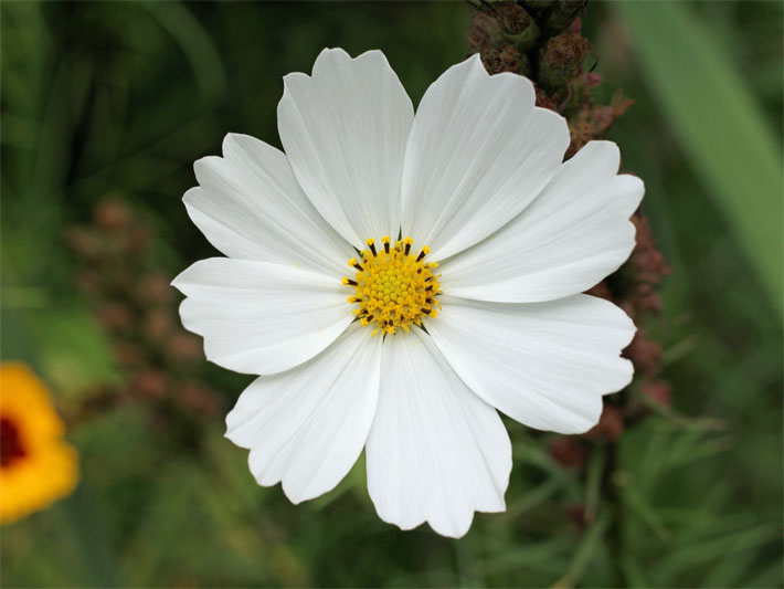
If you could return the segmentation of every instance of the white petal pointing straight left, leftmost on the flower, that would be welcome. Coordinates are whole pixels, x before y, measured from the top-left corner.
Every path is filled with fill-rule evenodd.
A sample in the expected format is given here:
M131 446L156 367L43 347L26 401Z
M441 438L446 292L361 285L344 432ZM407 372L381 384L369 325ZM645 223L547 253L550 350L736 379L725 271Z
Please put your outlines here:
M204 338L206 358L237 372L288 370L326 348L354 317L338 280L278 264L212 257L172 284L188 297L182 325Z

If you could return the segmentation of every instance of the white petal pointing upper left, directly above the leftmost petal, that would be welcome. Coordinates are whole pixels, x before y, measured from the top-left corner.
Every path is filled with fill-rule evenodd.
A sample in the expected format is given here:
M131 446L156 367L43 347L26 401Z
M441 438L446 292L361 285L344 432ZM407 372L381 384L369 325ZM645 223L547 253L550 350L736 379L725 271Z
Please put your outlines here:
M342 275L353 250L310 204L282 151L229 134L223 158L205 157L193 167L200 187L183 200L222 253Z

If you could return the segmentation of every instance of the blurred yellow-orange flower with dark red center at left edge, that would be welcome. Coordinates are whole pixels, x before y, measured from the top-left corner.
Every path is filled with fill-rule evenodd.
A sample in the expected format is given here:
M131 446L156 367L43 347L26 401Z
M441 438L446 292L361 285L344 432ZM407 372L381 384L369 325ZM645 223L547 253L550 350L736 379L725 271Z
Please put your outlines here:
M76 451L46 386L21 362L0 365L0 523L8 524L71 493Z

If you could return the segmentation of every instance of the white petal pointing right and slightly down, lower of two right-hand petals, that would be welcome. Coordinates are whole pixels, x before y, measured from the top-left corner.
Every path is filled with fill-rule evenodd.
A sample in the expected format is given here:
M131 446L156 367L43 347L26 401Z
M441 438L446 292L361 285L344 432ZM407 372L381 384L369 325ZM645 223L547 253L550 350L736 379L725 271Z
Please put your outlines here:
M439 302L427 322L438 349L474 392L520 423L582 433L598 421L602 396L632 380L632 362L619 354L635 327L607 301Z

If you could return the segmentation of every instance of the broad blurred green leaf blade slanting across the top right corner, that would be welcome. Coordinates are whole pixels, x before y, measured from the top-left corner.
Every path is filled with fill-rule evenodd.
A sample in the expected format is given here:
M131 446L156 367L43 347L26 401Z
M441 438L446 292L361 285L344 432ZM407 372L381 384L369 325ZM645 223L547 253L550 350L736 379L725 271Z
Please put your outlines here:
M688 4L613 7L655 101L781 313L782 155L770 125Z

